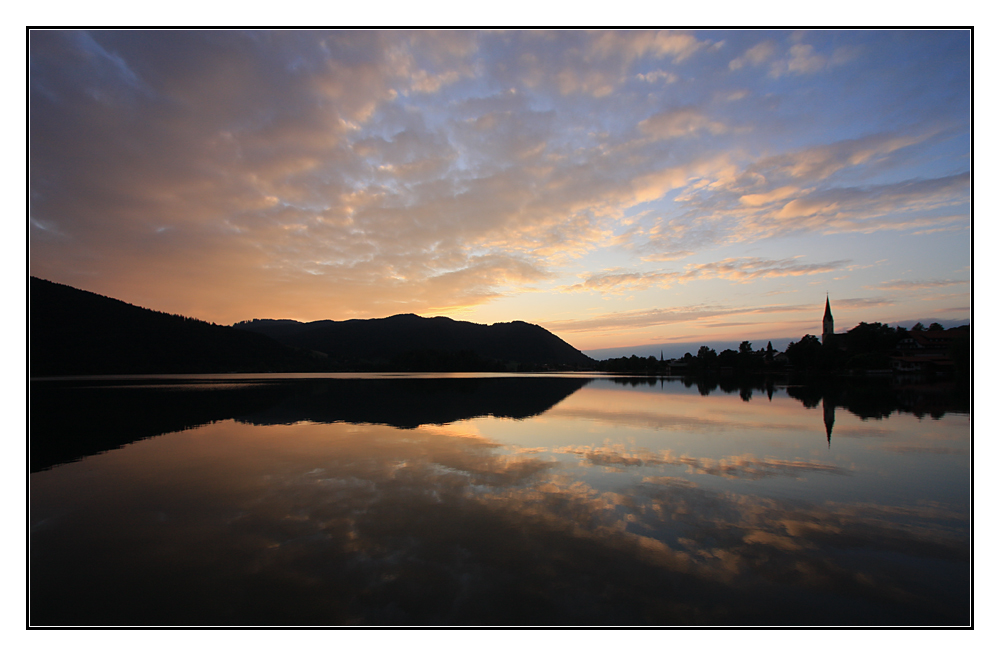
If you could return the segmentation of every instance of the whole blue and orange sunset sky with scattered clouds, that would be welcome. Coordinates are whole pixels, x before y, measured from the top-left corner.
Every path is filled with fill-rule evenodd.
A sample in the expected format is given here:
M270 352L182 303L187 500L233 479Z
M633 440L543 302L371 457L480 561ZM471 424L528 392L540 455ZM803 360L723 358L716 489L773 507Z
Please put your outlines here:
M970 36L32 31L31 275L584 351L971 314Z

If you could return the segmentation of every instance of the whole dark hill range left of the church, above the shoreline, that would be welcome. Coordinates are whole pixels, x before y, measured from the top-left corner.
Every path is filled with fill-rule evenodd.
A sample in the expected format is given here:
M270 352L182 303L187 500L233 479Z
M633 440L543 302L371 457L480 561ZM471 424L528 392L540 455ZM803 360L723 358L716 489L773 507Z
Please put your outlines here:
M31 277L32 377L293 371L530 371L594 364L541 326L398 315L219 326Z

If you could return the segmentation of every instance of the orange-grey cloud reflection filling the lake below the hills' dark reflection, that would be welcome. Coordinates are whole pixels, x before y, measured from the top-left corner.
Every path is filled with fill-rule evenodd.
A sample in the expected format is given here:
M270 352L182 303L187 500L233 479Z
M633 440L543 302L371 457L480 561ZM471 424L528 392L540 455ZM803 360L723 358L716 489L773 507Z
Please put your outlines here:
M843 473L822 463L563 450L649 470L604 489L467 427L222 421L36 474L33 622L967 621L962 512L666 475Z

